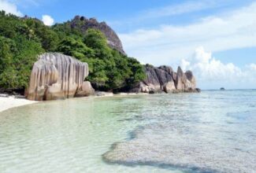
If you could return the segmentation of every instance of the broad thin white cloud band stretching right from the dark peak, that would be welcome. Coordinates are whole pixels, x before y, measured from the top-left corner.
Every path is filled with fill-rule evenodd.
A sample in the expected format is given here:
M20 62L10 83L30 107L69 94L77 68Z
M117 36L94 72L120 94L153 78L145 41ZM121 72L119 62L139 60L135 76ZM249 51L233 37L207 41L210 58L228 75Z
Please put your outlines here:
M256 46L256 2L250 6L206 17L184 26L163 25L154 30L120 34L124 49L132 57L150 64L173 64L198 46L221 51Z

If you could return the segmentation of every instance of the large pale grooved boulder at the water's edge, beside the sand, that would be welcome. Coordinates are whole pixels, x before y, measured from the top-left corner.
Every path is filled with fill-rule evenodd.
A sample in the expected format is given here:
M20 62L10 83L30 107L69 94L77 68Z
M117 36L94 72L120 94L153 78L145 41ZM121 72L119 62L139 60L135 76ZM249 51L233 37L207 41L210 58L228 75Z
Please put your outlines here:
M87 96L91 83L84 82L88 64L61 53L44 53L36 61L27 90L29 100L43 101Z

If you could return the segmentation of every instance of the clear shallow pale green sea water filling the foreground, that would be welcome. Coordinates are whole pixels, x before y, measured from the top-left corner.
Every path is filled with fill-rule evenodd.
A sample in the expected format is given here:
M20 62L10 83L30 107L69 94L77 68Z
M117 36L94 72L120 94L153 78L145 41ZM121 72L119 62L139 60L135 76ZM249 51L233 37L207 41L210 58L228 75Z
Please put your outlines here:
M0 113L0 172L256 172L256 90L9 109Z

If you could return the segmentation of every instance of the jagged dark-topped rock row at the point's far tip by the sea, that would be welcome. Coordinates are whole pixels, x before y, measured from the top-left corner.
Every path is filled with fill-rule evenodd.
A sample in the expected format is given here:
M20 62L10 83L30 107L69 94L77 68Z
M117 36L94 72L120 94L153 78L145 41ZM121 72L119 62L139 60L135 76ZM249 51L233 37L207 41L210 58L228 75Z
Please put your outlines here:
M199 92L196 88L195 76L191 71L183 72L179 67L177 72L169 66L155 68L146 65L147 78L138 83L131 92L143 93L177 93Z

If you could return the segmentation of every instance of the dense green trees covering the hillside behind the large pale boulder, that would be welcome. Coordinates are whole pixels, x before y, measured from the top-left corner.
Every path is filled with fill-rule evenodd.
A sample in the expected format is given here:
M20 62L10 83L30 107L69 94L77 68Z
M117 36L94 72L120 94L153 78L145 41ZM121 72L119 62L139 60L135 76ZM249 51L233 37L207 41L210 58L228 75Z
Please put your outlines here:
M143 65L111 49L101 31L84 34L67 23L47 27L37 19L0 12L0 88L27 87L32 65L44 52L87 62L87 80L98 90L128 88L145 78Z

